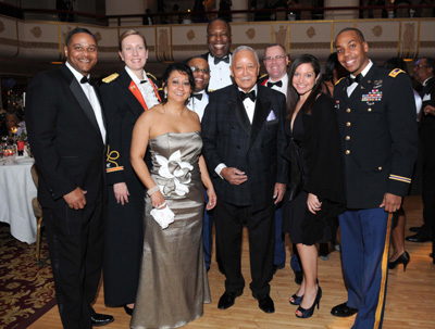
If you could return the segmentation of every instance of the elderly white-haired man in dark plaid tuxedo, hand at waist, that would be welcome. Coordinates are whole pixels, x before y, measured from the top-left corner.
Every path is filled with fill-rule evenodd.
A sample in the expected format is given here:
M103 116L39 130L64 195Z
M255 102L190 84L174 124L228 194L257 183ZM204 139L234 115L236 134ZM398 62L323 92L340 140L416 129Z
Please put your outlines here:
M257 85L257 53L240 46L231 66L235 84L210 94L202 117L203 155L217 193L214 212L216 250L225 281L217 307L241 295L241 233L249 230L252 295L265 313L274 312L269 281L273 276L274 203L284 195L287 169L282 154L285 96Z

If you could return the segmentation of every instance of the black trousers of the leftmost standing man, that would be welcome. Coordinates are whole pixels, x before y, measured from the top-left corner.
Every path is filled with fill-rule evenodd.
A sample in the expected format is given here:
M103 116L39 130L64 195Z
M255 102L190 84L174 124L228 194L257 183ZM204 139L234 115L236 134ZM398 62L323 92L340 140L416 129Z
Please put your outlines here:
M55 298L64 329L91 328L90 304L101 277L105 229L102 202L75 211L44 208Z

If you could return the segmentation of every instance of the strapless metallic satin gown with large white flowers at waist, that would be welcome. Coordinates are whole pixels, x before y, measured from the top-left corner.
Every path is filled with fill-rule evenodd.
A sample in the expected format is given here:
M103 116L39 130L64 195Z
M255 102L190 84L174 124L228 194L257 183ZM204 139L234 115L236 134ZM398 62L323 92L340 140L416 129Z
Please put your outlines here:
M202 249L201 149L199 131L149 141L151 177L175 220L162 229L150 216L146 195L144 258L130 328L178 328L201 317L203 304L211 302Z

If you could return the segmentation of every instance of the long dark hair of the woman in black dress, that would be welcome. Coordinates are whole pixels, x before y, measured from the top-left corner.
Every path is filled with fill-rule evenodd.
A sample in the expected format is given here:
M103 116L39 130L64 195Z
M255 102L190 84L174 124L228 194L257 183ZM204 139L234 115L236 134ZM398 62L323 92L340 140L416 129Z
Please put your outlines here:
M316 58L311 54L301 54L299 58L293 62L290 74L288 77L288 90L287 90L287 119L291 121L293 113L295 112L296 104L299 101L299 93L296 91L295 87L293 87L293 77L295 76L296 69L301 64L311 64L316 79L320 75L320 64ZM314 105L314 101L320 92L322 92L320 78L314 83L314 87L311 90L310 96L307 101L303 103L302 109L300 109L306 114L311 114L311 111Z

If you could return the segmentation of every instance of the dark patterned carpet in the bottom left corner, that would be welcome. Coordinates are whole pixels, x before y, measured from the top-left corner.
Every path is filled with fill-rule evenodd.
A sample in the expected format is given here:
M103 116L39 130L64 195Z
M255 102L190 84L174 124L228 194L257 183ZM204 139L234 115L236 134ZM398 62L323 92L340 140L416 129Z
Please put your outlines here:
M0 224L0 329L24 329L55 305L54 282L42 235L41 257L36 243L14 239Z

